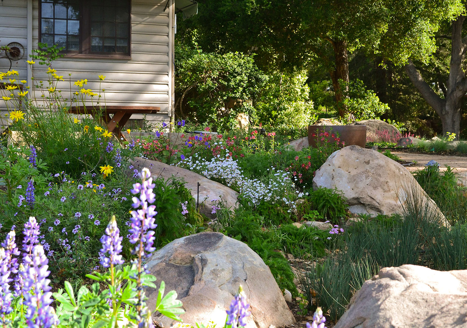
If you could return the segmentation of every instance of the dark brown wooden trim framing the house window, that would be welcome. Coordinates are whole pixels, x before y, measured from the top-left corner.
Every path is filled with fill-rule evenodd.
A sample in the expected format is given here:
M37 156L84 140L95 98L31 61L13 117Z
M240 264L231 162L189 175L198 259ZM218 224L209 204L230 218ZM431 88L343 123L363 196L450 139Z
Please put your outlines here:
M127 0L128 7L128 52L96 52L91 51L91 2L95 0L80 1L80 24L79 24L79 51L63 51L64 58L92 58L92 59L131 59L131 0ZM38 40L41 41L42 35L42 0L39 0L39 26ZM50 46L50 45L49 45Z

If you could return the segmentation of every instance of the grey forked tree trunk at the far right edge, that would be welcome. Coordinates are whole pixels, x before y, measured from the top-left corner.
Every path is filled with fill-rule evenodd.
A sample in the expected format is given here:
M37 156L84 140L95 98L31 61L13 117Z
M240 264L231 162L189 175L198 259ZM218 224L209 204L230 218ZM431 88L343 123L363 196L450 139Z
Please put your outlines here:
M456 140L459 139L461 106L464 95L467 92L467 78L462 70L462 60L467 50L467 37L462 39L462 25L465 16L458 17L452 25L451 63L449 65L449 77L446 82L446 96L444 99L433 91L427 84L415 65L409 60L405 65L405 71L410 81L421 93L425 101L439 115L443 125L443 136L446 132L455 133Z

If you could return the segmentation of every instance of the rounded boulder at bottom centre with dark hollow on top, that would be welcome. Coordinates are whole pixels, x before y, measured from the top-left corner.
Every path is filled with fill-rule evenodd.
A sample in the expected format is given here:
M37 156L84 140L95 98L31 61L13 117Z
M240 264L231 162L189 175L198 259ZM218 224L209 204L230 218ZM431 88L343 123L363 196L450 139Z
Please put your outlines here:
M183 302L184 322L223 327L226 309L242 285L250 304L247 328L283 327L295 322L269 267L246 244L219 232L201 232L176 239L156 251L148 269L175 290ZM157 290L146 288L148 307L156 306ZM175 321L156 316L155 321L170 327Z

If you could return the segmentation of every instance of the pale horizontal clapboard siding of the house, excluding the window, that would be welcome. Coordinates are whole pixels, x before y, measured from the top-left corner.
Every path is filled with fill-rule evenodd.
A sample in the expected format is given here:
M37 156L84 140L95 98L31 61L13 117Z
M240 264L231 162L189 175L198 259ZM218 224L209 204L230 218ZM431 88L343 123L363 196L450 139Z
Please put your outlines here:
M27 44L27 0L4 0L0 2L0 44L18 41L25 48ZM33 48L37 48L39 26L39 1L32 1ZM159 114L148 115L146 119L167 120L169 106L169 10L165 10L167 0L132 0L131 2L131 59L95 59L63 57L55 60L52 67L65 81L57 85L64 98L70 98L71 92L78 88L73 83L87 79L86 89L98 92L105 89L106 105L124 106L159 106ZM6 10L4 10L6 8ZM5 19L6 18L6 19ZM10 28L14 26L15 28ZM3 37L11 35L11 37ZM27 49L30 54L30 49ZM26 77L26 56L14 68L20 71L21 79ZM8 61L6 61L8 63ZM5 70L1 65L0 69ZM9 63L8 63L9 64ZM6 67L8 68L8 67ZM21 69L21 70L20 70ZM35 81L46 81L47 67L32 65ZM71 74L71 76L69 76ZM99 81L104 75L104 81ZM71 84L71 88L70 88ZM47 91L46 91L47 92ZM36 97L39 95L36 92ZM101 103L103 103L101 98ZM40 99L39 99L40 101ZM95 101L95 100L94 100ZM5 106L3 101L0 106ZM89 105L90 103L88 103ZM141 119L142 115L133 115L132 119Z

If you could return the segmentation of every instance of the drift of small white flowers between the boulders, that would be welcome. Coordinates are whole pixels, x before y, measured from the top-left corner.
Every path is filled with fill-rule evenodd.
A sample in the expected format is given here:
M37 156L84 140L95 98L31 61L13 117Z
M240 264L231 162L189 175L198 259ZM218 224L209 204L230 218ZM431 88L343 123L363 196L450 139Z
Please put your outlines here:
M226 149L225 156L217 155L211 161L199 159L197 154L194 154L180 161L177 166L202 174L208 179L222 181L226 186L238 190L254 205L262 201L281 202L288 208L288 212L296 208L295 200L302 194L295 191L290 173L271 167L268 169L270 174L265 179L248 179L243 175L243 170L238 166L237 161L228 153L229 150Z

